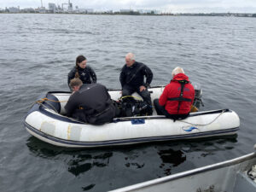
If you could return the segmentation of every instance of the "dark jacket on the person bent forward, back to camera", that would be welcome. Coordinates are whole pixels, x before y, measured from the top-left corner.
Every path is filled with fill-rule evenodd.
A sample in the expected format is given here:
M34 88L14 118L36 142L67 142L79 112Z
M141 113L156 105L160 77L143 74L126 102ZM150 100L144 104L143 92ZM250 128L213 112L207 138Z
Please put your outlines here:
M83 84L69 97L65 106L67 116L93 125L102 125L112 121L115 108L102 84Z

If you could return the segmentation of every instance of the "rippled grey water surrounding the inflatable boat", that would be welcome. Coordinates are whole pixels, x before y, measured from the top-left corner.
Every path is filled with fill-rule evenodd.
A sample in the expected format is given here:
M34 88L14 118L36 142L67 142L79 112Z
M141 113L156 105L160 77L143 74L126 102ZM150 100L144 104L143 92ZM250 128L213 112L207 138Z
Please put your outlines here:
M256 19L129 15L0 15L0 191L107 191L251 153L256 137ZM98 82L120 88L125 54L167 84L184 68L205 107L241 119L235 137L67 149L32 137L23 119L36 98L68 90L85 55Z

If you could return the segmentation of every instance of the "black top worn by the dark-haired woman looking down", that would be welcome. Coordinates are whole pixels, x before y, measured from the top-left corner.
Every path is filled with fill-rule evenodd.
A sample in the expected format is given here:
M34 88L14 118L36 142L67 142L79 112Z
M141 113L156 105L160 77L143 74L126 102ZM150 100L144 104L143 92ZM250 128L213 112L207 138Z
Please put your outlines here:
M74 79L75 74L77 73L77 68L73 67L73 69L68 73L67 75L67 84L69 86L70 80ZM93 69L89 66L86 66L85 68L79 67L79 79L83 82L83 84L91 84L96 83L96 73L93 71Z

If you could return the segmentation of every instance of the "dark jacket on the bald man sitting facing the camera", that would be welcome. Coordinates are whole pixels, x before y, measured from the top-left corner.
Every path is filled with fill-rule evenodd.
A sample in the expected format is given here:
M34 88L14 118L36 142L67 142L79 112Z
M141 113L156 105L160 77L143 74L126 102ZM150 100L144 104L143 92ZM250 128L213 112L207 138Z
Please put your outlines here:
M146 77L146 83L144 83L144 76ZM148 87L153 79L153 73L142 62L135 61L131 67L125 65L122 68L119 79L122 87L127 84L137 89L141 85Z

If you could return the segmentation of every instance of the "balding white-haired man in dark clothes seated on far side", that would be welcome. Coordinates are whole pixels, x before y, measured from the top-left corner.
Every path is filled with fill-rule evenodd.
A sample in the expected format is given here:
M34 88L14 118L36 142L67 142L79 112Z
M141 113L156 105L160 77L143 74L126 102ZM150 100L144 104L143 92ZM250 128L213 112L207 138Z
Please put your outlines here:
M144 76L146 83L144 83ZM121 70L119 79L122 85L122 96L131 96L132 93L137 92L149 106L152 106L147 88L153 79L153 73L145 64L135 61L132 53L125 55L125 66Z

